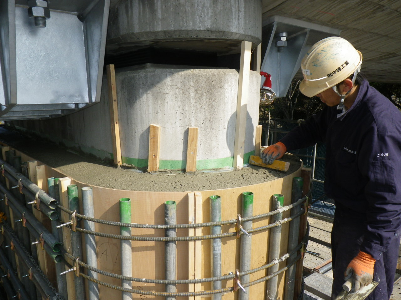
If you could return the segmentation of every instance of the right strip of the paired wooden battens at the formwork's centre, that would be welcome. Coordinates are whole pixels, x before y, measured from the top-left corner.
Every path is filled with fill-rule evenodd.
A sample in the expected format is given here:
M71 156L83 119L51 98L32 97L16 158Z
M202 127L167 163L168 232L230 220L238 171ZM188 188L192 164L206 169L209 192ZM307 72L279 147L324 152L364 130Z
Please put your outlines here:
M202 223L202 194L195 193L195 223ZM195 236L202 236L202 228L195 228ZM202 241L195 241L195 278L202 276ZM195 284L195 292L201 291L201 284ZM194 300L201 300L201 296L195 296Z

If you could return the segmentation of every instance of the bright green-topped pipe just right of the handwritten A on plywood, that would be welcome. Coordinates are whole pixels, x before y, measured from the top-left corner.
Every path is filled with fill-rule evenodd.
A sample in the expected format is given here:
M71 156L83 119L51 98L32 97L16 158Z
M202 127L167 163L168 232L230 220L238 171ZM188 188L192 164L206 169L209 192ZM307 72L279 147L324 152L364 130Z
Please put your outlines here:
M131 223L131 199L121 198L120 206L120 222ZM130 227L120 227L120 234L123 236L131 236ZM121 240L121 275L132 277L132 244L130 240ZM123 288L132 288L130 280L121 280ZM130 292L122 292L122 300L131 300Z

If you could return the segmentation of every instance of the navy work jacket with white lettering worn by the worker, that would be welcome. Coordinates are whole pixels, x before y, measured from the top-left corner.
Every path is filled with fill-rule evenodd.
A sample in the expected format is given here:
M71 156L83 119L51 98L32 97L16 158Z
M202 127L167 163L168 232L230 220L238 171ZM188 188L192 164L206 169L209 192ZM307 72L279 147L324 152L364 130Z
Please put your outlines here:
M366 216L360 250L378 260L401 226L401 113L365 80L351 108L337 114L326 106L280 142L287 151L326 143L326 194Z

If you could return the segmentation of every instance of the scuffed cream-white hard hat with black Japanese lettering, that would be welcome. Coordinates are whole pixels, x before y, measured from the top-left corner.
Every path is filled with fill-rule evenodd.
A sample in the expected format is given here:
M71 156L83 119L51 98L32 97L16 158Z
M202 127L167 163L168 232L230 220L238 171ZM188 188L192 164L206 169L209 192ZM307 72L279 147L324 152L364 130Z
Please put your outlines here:
M313 97L358 72L362 54L338 36L324 38L310 48L301 62L300 91Z

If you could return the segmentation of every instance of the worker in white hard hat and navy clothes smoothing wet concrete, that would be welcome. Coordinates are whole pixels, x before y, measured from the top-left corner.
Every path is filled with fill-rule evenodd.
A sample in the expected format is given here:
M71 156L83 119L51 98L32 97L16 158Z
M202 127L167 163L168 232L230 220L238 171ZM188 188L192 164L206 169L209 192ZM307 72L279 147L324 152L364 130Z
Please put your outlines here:
M401 226L401 113L359 73L362 54L347 40L317 42L302 62L300 91L326 105L261 153L271 164L286 151L326 143L324 188L334 199L332 298L348 278L367 299L388 300Z

